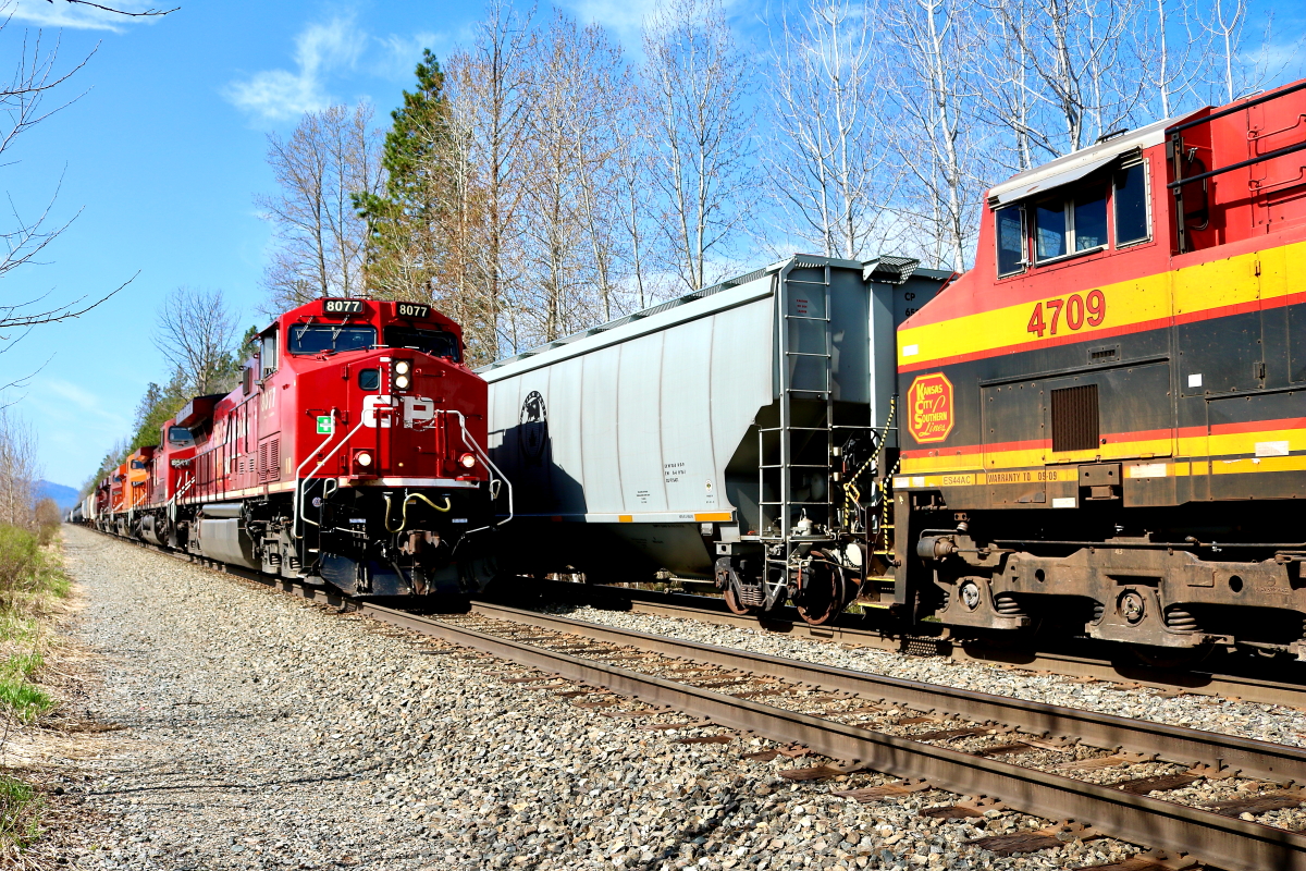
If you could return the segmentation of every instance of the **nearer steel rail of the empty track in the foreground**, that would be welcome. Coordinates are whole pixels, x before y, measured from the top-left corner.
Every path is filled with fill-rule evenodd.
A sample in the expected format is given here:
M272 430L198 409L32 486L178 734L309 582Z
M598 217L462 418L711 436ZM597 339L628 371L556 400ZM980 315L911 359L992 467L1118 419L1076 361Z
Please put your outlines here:
M858 769L926 778L959 795L995 797L1024 814L1075 820L1123 841L1188 853L1226 871L1306 871L1306 836L1286 829L773 708L405 611L364 602L358 612L721 726L803 744Z

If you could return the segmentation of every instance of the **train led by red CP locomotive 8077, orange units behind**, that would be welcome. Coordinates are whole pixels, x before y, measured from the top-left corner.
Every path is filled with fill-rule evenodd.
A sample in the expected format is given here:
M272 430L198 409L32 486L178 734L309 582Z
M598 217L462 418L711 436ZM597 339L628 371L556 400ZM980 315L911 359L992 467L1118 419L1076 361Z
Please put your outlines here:
M512 492L457 324L424 304L320 299L255 342L240 385L187 404L84 517L350 594L483 588Z

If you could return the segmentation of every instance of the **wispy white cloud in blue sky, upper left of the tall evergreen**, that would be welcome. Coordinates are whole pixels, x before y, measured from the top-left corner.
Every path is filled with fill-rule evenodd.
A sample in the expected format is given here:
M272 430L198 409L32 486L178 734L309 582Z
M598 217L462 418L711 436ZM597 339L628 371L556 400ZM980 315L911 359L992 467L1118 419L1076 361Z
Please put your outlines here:
M231 82L225 95L234 106L264 121L325 108L330 103L326 77L351 69L366 42L367 34L355 29L353 18L310 25L295 37L295 72L265 69Z

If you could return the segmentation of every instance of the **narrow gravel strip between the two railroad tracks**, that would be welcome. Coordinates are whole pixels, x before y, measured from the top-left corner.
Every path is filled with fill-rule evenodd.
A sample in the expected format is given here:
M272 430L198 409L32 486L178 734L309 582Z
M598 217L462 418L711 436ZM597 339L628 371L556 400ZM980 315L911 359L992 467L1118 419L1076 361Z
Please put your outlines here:
M957 662L943 657L916 657L871 648L849 648L816 639L790 637L763 628L716 626L686 618L609 611L588 606L549 606L542 610L586 623L769 653L802 662L1151 720L1276 744L1306 746L1306 712L1281 705L1220 696L1169 695L1109 682L1085 683L1060 675L1034 674L978 662Z

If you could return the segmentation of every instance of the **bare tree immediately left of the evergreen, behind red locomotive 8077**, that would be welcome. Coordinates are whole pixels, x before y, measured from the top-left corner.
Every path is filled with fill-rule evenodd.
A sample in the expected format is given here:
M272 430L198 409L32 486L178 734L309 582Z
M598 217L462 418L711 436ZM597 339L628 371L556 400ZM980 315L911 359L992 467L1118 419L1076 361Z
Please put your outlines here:
M281 242L264 273L269 313L366 290L368 229L354 196L380 191L372 118L370 103L334 104L307 112L289 140L268 136L268 163L281 187L256 198Z

